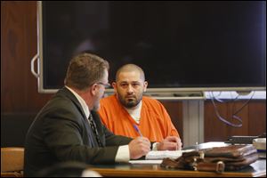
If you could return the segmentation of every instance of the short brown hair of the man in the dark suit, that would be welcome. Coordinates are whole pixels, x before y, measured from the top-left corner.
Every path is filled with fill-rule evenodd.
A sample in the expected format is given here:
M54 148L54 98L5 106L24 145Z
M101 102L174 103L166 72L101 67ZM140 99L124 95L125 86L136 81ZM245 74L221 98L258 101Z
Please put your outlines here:
M109 62L92 53L81 53L69 62L65 85L85 90L104 76L109 70Z

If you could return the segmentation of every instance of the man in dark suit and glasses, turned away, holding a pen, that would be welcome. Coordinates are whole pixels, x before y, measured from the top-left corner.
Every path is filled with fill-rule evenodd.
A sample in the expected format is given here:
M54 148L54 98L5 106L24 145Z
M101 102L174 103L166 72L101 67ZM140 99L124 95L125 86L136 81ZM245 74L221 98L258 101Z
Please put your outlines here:
M65 86L47 102L28 130L25 176L35 176L61 162L112 164L141 158L150 151L147 138L114 135L101 124L96 110L109 85L108 69L108 61L89 53L69 62Z

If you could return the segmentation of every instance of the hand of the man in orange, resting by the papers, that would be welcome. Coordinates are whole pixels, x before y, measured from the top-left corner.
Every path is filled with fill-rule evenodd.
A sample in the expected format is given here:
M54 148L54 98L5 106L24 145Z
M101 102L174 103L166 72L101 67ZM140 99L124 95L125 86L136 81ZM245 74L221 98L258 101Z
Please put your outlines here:
M177 136L167 136L162 142L158 143L158 150L181 150L182 142Z

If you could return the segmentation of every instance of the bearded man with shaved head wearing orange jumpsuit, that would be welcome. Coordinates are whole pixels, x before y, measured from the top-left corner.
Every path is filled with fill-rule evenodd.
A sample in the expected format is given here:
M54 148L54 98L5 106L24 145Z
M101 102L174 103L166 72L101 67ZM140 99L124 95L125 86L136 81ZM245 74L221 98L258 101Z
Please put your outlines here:
M103 124L111 132L132 138L142 135L150 142L160 142L161 146L167 138L169 142L166 144L176 144L177 150L182 148L179 134L164 106L155 99L142 96L148 82L140 67L134 64L122 66L117 70L116 82L112 86L115 94L101 99L99 109Z

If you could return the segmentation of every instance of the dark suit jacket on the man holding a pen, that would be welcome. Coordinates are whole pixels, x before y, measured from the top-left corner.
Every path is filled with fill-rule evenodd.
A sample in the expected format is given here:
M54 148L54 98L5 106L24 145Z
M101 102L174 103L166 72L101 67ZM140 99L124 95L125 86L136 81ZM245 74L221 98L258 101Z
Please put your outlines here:
M67 88L62 88L38 113L25 142L24 174L34 176L45 167L64 161L86 164L115 163L119 145L132 139L114 135L91 111L101 142L98 147L82 106Z

